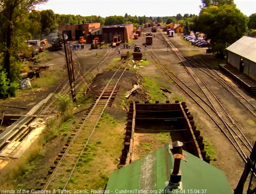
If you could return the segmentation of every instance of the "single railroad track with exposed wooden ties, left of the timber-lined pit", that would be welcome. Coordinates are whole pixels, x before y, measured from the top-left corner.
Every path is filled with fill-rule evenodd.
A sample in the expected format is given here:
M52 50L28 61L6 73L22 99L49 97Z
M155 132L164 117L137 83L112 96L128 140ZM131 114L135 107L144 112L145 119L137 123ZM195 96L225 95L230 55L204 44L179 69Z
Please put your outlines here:
M63 190L68 185L68 181L71 178L77 163L82 157L82 154L85 151L85 148L90 141L90 138L95 133L95 129L99 119L102 116L105 108L111 105L111 100L113 101L113 96L117 93L119 86L117 85L120 78L123 76L126 68L119 72L117 70L115 74L112 76L108 84L102 89L100 94L98 95L97 100L92 105L89 113L86 113L82 120L79 122L79 125L74 130L74 137L70 142L63 147L62 153L58 155L56 158L55 165L51 166L52 171L49 171L50 177L46 183L41 183L43 188L39 188L40 190L53 190L58 189L59 185L63 185ZM119 75L118 73L119 72ZM121 74L121 75L120 75ZM115 85L110 87L110 82L117 78ZM86 127L84 125L86 124ZM85 137L88 137L85 142ZM67 169L72 169L67 170Z

